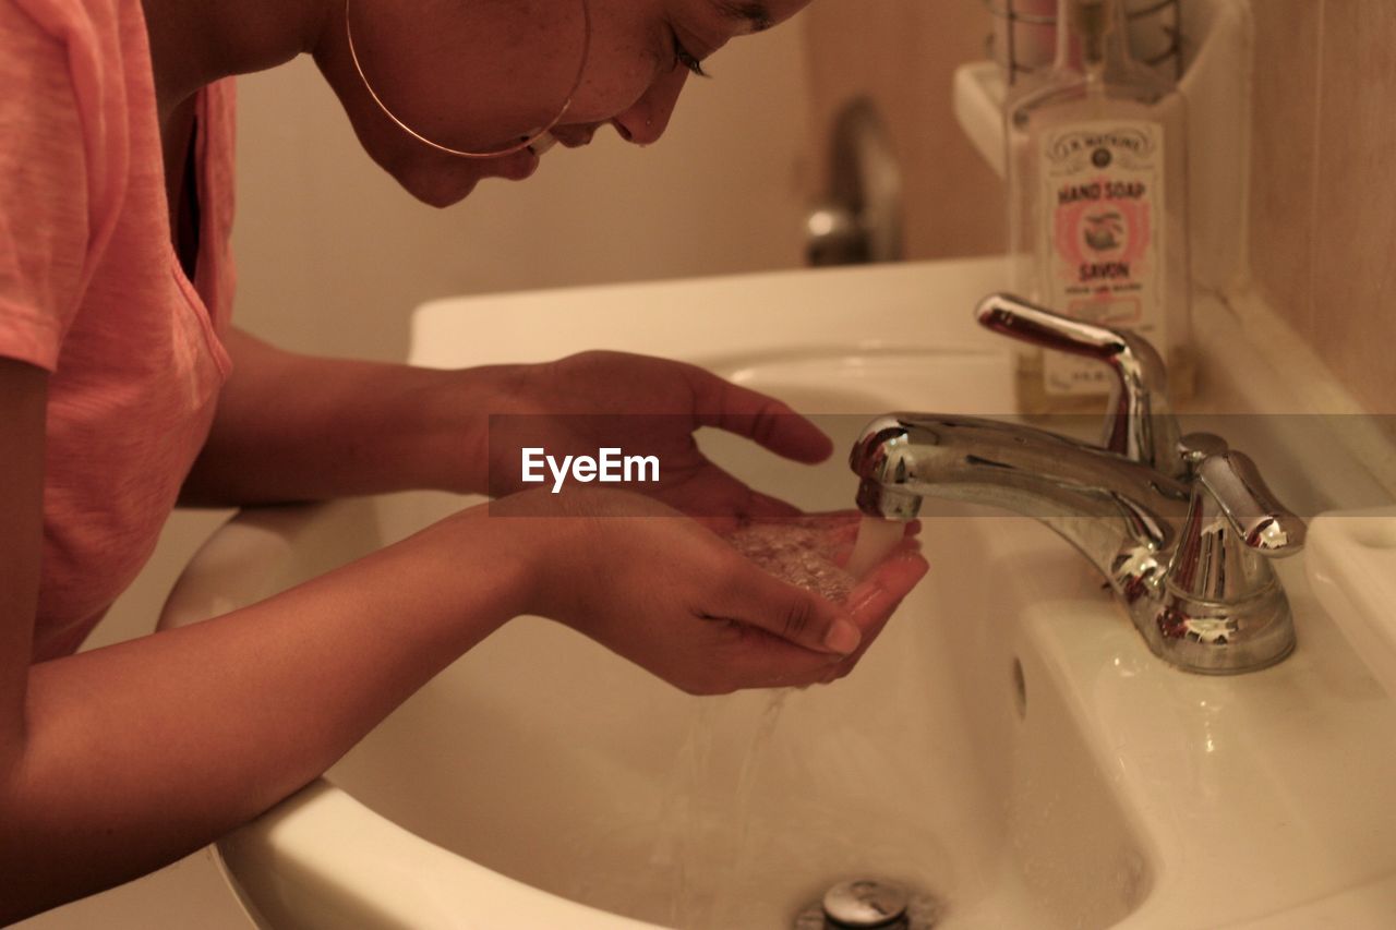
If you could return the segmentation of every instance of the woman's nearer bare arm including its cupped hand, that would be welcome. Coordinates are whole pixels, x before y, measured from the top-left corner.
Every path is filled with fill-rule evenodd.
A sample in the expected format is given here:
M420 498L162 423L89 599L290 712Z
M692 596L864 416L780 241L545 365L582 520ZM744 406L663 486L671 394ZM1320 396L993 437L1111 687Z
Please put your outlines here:
M46 378L0 359L0 923L212 842L519 613L692 693L807 684L847 673L926 568L906 553L846 610L649 499L525 492L250 607L31 666ZM662 573L634 571L656 553ZM831 635L845 623L861 642Z

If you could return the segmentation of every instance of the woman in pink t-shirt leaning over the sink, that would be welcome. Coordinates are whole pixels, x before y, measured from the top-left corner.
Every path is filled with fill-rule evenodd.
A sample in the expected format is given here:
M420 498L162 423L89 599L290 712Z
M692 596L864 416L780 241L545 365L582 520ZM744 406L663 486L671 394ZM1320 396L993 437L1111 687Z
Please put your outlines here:
M366 151L447 205L526 177L551 140L658 140L701 59L804 1L0 0L0 922L258 814L518 614L694 693L852 669L924 571L914 552L832 605L709 529L790 510L709 465L697 426L831 452L779 402L638 356L424 371L229 324L223 78L310 52ZM491 412L554 415L556 451L627 438L557 415L677 415L645 436L664 483L493 487L518 493L253 607L75 654L177 500L484 490Z

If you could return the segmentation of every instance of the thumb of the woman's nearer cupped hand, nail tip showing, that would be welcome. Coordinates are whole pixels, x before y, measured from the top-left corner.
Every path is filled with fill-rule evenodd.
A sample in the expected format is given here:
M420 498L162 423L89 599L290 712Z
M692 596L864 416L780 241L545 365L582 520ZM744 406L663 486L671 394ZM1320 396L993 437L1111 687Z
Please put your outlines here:
M805 649L849 655L863 638L839 605L750 563L741 564L722 591L723 616Z

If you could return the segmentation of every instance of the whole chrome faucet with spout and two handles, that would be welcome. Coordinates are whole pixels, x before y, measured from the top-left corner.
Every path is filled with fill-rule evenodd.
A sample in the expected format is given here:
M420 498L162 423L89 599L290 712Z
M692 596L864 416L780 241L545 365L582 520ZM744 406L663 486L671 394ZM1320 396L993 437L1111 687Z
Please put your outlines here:
M995 332L1111 367L1101 444L1002 420L891 413L853 447L859 508L912 519L924 497L941 497L1033 517L1081 550L1149 648L1180 669L1234 674L1287 656L1294 624L1269 563L1302 549L1304 521L1224 440L1180 437L1153 346L1011 295L986 297L977 316Z

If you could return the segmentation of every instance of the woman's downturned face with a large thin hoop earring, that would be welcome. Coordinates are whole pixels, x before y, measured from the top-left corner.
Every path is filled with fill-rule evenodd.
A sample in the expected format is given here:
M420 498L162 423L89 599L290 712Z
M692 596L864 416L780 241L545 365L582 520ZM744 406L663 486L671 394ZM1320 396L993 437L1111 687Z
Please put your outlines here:
M315 49L364 148L419 200L445 207L484 177L522 180L537 154L476 159L413 138L373 102L345 35L345 7ZM694 67L808 0L588 0L591 49L553 128L567 147L611 124L641 145L669 126ZM384 105L426 138L463 151L517 144L557 116L582 61L582 0L349 0L359 63ZM542 147L542 145L540 145Z

